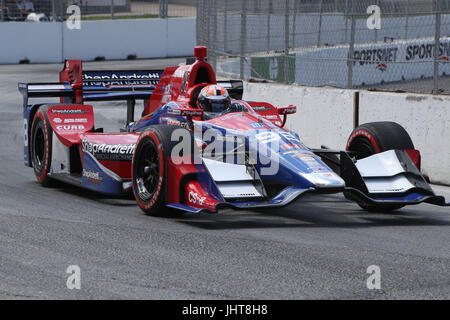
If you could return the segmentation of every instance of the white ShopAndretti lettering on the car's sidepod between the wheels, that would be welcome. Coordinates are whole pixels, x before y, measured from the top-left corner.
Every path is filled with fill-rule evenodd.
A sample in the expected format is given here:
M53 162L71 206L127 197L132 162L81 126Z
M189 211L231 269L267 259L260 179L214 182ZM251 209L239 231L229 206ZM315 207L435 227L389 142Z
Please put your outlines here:
M81 142L83 152L91 153L97 160L132 161L136 144L106 144L93 143L88 140Z

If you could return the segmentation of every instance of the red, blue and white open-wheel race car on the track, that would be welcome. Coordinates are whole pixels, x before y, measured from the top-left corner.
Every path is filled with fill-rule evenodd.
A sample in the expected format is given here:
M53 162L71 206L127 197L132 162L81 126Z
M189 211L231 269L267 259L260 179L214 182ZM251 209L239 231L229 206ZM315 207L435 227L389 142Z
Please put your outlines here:
M192 64L165 70L86 71L66 60L57 83L19 83L25 165L44 186L59 180L133 193L151 215L281 207L305 193L342 192L368 211L449 205L422 176L420 152L400 125L363 124L345 150L310 149L285 128L295 106L243 101L242 81L216 80L205 47L194 55ZM35 97L60 101L29 104ZM201 99L210 99L208 108ZM109 100L127 101L117 133L97 128L85 104Z

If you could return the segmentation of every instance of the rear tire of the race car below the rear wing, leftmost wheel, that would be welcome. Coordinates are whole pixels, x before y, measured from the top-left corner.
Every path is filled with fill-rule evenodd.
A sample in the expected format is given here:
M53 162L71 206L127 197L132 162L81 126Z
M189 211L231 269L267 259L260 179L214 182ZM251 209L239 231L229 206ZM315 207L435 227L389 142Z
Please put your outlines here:
M31 165L37 180L44 186L51 186L48 176L52 161L53 129L47 117L49 106L41 106L33 118L30 137Z

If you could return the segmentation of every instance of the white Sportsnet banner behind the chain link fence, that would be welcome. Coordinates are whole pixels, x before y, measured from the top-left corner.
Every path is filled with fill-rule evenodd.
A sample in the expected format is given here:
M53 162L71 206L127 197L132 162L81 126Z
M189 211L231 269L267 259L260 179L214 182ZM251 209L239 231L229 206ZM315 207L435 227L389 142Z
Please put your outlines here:
M309 49L296 53L295 82L346 87L349 46ZM450 37L441 38L439 75L450 74ZM353 85L431 78L434 39L355 45Z

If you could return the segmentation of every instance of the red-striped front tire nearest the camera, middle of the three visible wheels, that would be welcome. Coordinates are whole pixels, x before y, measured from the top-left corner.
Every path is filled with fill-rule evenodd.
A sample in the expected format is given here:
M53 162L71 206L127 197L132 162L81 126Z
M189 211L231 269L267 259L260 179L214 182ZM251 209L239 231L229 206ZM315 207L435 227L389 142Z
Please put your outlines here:
M151 216L178 216L185 211L166 207L167 158L179 141L172 141L175 130L189 130L173 125L155 125L143 132L136 142L132 162L133 194L139 207ZM191 146L192 146L191 145Z

